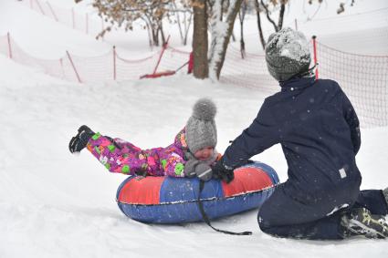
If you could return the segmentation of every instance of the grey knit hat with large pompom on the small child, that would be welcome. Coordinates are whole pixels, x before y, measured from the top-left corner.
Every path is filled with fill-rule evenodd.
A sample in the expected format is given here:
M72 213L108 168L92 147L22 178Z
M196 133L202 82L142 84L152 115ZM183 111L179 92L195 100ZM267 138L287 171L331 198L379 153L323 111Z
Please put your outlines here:
M195 102L193 114L186 123L187 146L193 154L206 147L215 148L217 144L216 112L215 103L210 98L200 98Z

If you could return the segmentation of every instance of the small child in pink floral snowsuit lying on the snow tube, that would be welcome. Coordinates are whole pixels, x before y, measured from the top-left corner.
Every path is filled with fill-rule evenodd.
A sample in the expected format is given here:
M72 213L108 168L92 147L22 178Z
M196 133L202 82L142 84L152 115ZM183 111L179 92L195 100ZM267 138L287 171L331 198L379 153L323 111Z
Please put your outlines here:
M166 148L141 150L123 139L111 139L81 126L69 142L71 153L85 147L110 172L151 176L194 177L208 181L212 178L211 165L220 158L215 150L215 103L201 98L193 108L186 126Z

